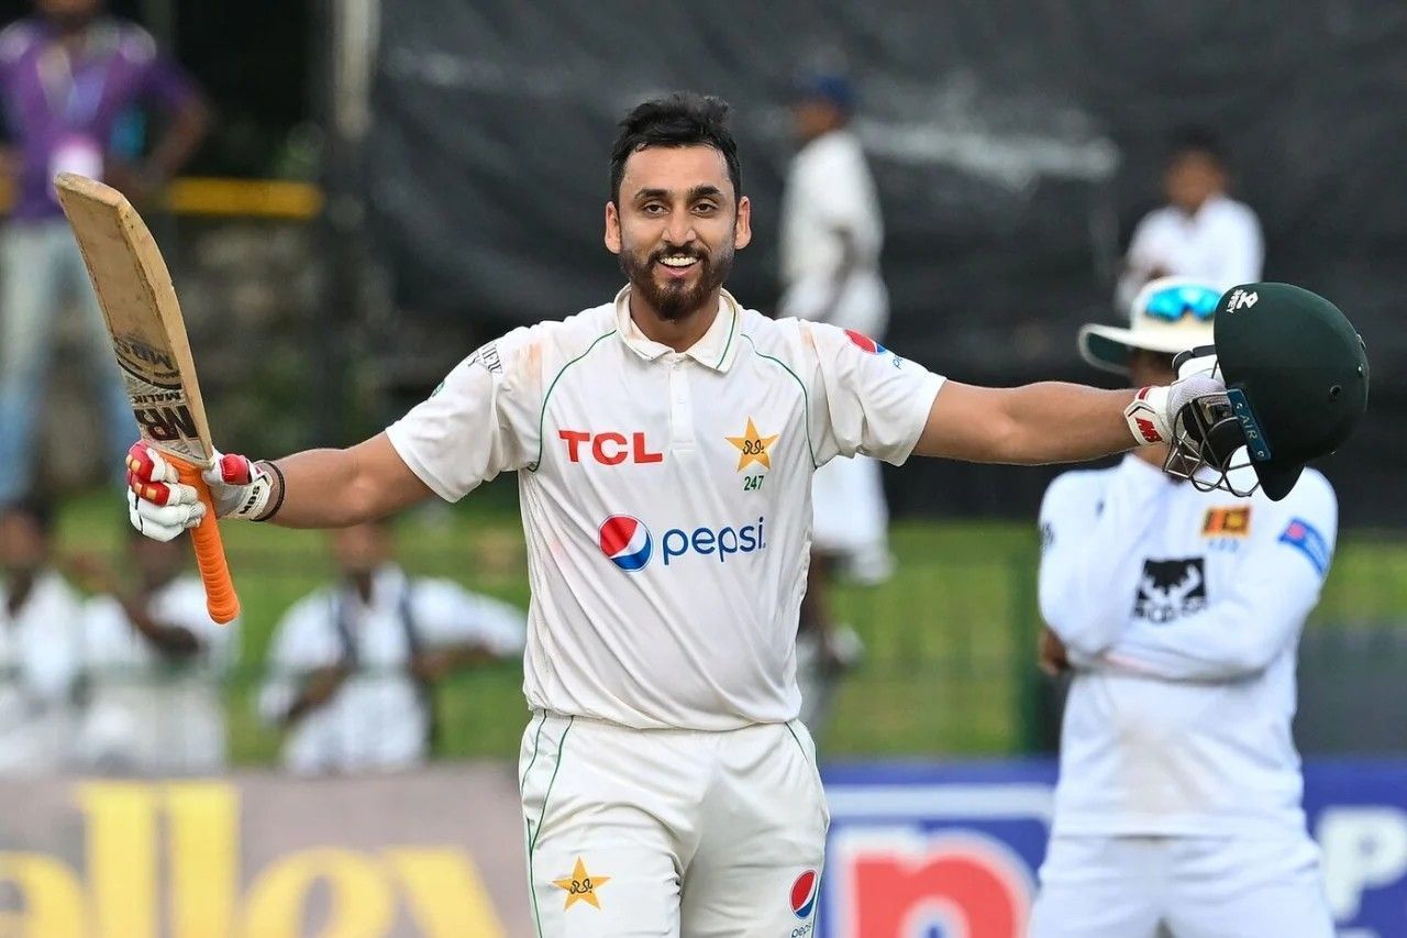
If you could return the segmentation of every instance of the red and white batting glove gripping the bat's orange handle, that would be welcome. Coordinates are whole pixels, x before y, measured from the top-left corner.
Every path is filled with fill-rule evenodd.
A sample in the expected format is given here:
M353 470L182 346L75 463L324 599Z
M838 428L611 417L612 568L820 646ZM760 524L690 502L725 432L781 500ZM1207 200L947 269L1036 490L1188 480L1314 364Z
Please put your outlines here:
M265 463L217 452L201 476L210 486L217 518L262 520L274 489ZM180 482L167 459L145 442L127 451L127 506L132 527L155 541L170 541L205 517L194 486Z

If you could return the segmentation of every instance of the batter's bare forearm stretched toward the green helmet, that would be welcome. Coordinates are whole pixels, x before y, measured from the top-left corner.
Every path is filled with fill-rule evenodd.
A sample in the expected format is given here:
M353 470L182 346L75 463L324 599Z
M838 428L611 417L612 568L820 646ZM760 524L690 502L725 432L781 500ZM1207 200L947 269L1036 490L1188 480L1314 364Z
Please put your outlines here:
M1097 459L1141 442L1133 435L1138 424L1126 417L1137 393L1141 392L1061 382L978 387L948 380L933 399L913 451L923 456L1016 465ZM1164 417L1162 425L1152 421L1142 439L1162 442L1165 434Z

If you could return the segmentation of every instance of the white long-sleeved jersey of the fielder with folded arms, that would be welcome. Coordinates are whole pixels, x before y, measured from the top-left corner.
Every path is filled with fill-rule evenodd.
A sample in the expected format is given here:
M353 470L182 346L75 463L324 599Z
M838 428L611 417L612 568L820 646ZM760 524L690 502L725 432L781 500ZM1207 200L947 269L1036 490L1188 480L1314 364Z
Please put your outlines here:
M1041 615L1069 649L1055 834L1304 830L1290 735L1300 628L1338 503L1203 493L1135 456L1041 507Z

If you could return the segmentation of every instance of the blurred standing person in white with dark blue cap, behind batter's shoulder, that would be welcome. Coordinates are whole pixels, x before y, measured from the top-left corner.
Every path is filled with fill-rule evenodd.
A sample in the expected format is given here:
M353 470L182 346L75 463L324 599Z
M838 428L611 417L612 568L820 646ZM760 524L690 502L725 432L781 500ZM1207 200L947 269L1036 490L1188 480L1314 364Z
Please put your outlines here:
M884 218L860 138L850 130L854 89L840 75L805 80L792 107L801 149L781 208L779 315L829 323L867 341L884 338L889 294L879 275ZM837 576L886 579L889 508L879 462L832 459L812 477L812 556L796 634L801 720L822 737L839 677L860 658L855 631L834 620Z

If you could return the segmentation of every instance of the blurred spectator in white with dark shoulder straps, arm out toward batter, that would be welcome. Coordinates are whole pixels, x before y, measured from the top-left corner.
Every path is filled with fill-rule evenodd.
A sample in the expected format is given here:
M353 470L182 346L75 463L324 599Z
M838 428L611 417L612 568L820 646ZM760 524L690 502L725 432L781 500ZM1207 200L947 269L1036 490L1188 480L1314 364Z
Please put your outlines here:
M332 552L340 580L279 623L259 708L288 730L293 772L416 765L429 752L435 683L521 655L526 620L449 580L407 576L388 520L333 531Z

